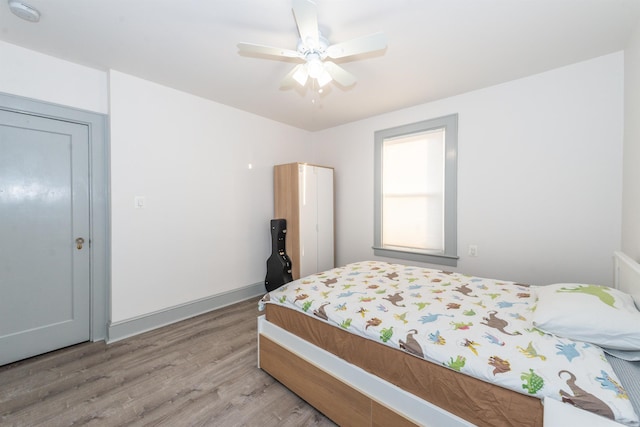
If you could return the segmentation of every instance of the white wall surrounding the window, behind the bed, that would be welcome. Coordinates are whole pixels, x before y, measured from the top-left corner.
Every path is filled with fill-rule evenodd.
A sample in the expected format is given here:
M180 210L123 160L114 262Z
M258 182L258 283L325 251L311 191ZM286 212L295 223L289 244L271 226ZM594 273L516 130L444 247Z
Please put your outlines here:
M622 52L312 135L314 161L335 167L338 264L375 258L374 131L451 113L457 270L610 283L621 239Z

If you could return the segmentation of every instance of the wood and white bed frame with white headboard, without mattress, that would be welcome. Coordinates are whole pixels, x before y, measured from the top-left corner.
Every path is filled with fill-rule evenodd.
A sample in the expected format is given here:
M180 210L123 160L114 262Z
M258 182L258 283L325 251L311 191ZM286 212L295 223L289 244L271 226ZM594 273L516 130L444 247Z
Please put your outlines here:
M620 252L614 254L614 284L640 306L640 265ZM341 426L474 425L268 322L264 315L258 318L258 367ZM564 411L567 406L553 405L553 412L544 414L545 426L572 419L573 412ZM596 426L601 417L593 417L590 425Z

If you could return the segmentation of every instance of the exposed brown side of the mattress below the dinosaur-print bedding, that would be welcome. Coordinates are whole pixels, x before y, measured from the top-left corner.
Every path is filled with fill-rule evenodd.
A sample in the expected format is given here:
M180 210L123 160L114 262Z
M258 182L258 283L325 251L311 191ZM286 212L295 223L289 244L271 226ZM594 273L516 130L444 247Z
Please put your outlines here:
M536 398L398 352L283 306L268 304L267 321L478 426L542 426Z

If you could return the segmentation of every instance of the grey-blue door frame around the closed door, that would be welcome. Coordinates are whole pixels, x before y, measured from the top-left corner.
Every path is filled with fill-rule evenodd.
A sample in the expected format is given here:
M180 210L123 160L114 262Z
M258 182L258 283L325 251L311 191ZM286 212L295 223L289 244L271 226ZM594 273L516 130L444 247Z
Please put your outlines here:
M0 109L78 123L89 128L90 340L106 340L111 313L108 117L1 92Z

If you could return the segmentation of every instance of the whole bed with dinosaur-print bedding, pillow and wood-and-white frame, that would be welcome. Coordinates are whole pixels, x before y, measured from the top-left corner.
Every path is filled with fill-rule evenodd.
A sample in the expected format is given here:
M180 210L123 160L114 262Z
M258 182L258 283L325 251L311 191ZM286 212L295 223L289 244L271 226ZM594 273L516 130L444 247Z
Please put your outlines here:
M569 298L565 305L574 308L586 298L583 317L597 317L592 301L622 301L625 315L640 316L627 295L640 297L640 269L620 253L615 265L625 293L611 303L615 289L603 294L592 285L533 287L378 261L349 264L265 295L258 365L340 425L541 426L550 423L543 402L553 400L548 406L564 402L554 413L575 405L596 420L637 426L610 356L601 345L550 333L558 319L544 310L553 308L549 297ZM592 333L581 328L589 321L580 319L572 332ZM637 344L630 329L593 340L626 350Z

